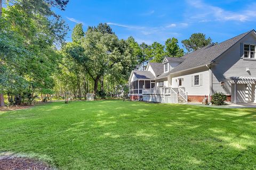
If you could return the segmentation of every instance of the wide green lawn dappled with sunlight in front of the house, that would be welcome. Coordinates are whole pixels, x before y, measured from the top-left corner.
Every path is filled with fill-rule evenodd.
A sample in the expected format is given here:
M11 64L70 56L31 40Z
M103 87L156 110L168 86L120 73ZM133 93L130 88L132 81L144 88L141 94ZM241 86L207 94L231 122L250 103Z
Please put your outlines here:
M59 169L255 169L256 109L103 100L0 112L0 151Z

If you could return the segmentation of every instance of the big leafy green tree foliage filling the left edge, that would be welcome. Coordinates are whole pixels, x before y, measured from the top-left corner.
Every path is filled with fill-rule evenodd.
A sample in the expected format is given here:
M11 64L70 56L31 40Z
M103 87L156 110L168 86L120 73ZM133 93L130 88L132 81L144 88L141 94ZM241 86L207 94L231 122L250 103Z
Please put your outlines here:
M29 104L37 92L50 91L59 59L54 45L63 42L65 31L45 1L7 3L0 18L1 92Z

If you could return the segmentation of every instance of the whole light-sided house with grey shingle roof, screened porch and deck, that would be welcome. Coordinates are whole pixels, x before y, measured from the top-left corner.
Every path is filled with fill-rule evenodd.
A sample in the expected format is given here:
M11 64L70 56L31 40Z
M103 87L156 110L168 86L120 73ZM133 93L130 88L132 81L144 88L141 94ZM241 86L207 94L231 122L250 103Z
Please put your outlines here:
M256 102L256 32L251 30L180 58L132 71L130 98L159 103L202 102L222 92L233 103Z

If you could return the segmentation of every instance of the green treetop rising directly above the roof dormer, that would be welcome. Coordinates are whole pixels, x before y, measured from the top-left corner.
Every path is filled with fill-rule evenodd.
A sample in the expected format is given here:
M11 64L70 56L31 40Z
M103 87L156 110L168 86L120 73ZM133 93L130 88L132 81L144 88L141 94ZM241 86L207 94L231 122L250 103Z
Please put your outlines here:
M165 41L166 54L169 57L181 57L184 55L184 50L181 49L178 45L178 39L168 38Z

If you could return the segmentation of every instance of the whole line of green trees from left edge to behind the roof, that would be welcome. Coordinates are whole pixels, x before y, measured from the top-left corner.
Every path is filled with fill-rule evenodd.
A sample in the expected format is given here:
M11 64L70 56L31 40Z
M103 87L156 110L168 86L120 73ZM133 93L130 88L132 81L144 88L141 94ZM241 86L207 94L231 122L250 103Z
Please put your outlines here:
M1 1L1 0L0 0ZM119 39L106 23L83 30L73 29L65 42L68 26L52 7L65 10L68 1L6 1L0 16L0 106L6 103L30 105L50 95L75 99L87 93L95 97L127 95L127 80L134 69L145 69L165 56L185 54L178 39L165 44L138 44L133 37ZM187 52L212 43L203 33L182 40Z

